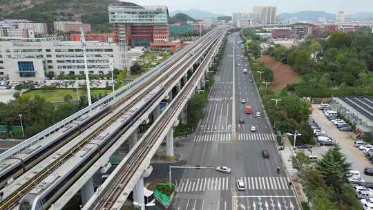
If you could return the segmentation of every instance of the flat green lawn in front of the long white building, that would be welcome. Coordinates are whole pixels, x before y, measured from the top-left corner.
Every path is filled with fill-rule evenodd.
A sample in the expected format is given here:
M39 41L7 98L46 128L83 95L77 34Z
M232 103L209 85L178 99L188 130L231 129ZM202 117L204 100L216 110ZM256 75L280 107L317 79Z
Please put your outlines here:
M91 89L90 93L92 96L95 95L106 95L111 93L113 90L111 89ZM61 102L64 101L65 95L71 95L73 99L78 99L78 93L76 89L35 89L30 90L27 93L23 93L21 97L23 98L30 98L35 99L35 96L39 95L40 97L46 99L47 102ZM84 89L79 89L79 96L87 96L87 91Z

